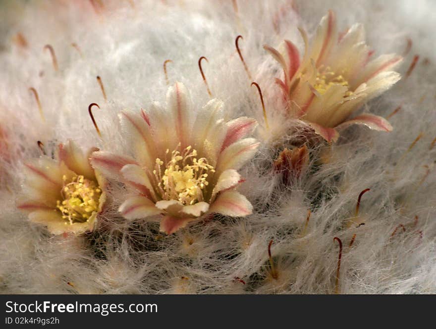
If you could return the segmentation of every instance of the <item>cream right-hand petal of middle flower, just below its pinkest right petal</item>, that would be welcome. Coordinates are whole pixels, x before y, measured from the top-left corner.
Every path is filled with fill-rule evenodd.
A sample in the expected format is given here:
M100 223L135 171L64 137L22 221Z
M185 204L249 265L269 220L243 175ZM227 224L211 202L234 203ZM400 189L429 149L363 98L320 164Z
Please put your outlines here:
M259 144L254 138L245 138L226 147L219 155L217 173L220 174L226 169L241 168L255 155Z

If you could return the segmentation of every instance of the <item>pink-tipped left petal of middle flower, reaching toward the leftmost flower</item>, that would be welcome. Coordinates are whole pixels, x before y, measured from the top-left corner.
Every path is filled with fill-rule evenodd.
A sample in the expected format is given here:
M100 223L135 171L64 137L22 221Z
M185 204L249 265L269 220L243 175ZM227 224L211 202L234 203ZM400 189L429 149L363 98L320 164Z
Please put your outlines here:
M120 156L106 151L94 152L91 156L91 165L102 172L106 177L123 182L121 168L127 164L137 164L136 161L127 156Z

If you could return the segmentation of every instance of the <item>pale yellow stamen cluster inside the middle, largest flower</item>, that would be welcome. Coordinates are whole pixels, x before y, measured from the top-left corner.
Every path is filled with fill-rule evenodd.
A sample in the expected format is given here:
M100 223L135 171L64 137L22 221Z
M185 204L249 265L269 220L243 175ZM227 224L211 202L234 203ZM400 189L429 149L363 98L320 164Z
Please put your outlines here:
M169 154L168 149L165 158L166 154ZM177 149L172 151L171 159L165 159L165 162L157 158L153 171L162 198L178 200L184 205L203 201L203 190L209 184L208 172L215 172L208 160L197 159L197 151L188 146L181 152Z

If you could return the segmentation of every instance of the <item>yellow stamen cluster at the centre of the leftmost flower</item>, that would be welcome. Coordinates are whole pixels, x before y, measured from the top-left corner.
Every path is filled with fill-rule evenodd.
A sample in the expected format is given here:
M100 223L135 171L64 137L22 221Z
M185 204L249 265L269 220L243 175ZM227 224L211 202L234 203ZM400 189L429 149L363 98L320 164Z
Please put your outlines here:
M62 218L70 224L88 221L98 210L102 190L97 183L83 176L74 176L70 183L63 176L63 187L60 191L63 200L57 200L56 208L62 213Z

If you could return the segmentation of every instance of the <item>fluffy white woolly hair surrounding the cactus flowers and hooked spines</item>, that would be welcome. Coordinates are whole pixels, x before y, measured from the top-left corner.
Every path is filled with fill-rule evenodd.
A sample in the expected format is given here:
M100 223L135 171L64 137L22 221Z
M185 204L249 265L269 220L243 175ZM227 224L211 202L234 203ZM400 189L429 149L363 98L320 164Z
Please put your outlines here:
M0 137L9 151L8 157L0 153L2 293L436 293L434 1L0 6ZM314 144L307 173L284 186L271 164L294 145L295 134L274 96L281 68L263 45L288 39L303 52L298 27L313 36L328 9L336 12L340 30L362 23L377 54L405 55L402 80L360 111L387 117L400 109L389 117L391 133L351 126L334 144ZM251 78L236 52L238 35ZM54 49L57 71L45 45ZM414 55L419 60L408 72ZM259 122L261 146L241 170L246 181L240 191L253 204L252 215L215 216L164 235L158 223L122 218L121 185L112 186L109 210L86 235L51 235L17 210L23 164L41 153L37 141L49 155L68 139L84 149L125 153L117 114L164 102L165 60L172 61L166 65L169 84L187 86L193 110L209 100L201 56L208 59L203 71L213 97L224 101L227 119L244 115ZM269 130L252 81L262 89ZM29 88L39 95L44 120ZM100 105L93 113L101 139L88 114L93 102ZM365 225L349 227L366 188L359 210Z

